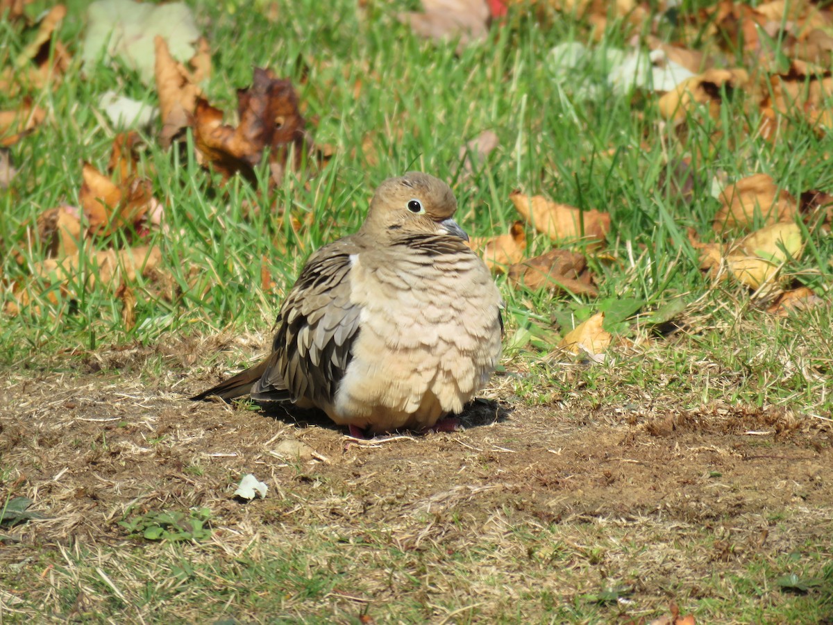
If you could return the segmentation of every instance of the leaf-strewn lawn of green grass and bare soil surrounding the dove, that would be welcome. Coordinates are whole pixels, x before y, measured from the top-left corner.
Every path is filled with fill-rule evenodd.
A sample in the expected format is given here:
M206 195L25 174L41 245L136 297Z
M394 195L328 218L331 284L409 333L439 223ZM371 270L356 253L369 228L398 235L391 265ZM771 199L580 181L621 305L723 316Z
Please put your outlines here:
M117 128L102 93L163 90L152 62L82 67L87 2L40 54L52 3L2 21L0 120L42 115L0 123L0 622L833 622L831 10L491 2L461 42L398 18L417 2L242 4L187 2L229 128L255 67L297 94L303 135L255 163L193 115L167 146L165 104ZM700 78L657 88L661 61L626 62L651 50ZM308 255L414 169L472 238L523 235L465 429L355 441L188 402L262 357ZM522 218L534 196L580 236ZM535 288L553 250L576 273L547 257ZM266 498L234 497L246 473Z

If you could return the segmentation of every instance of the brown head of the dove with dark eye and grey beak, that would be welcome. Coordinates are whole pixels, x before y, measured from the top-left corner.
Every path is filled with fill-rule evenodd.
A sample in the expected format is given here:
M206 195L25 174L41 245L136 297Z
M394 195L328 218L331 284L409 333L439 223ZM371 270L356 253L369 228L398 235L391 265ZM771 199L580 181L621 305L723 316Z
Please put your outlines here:
M374 233L446 234L468 241L452 219L457 209L446 183L426 173L408 172L379 185L363 229Z

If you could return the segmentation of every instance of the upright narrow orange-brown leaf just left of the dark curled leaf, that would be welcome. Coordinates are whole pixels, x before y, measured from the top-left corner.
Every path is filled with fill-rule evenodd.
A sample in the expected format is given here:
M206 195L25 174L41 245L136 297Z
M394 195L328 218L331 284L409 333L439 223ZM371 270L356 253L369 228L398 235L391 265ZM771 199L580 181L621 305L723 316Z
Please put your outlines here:
M200 39L197 54L191 60L195 70L189 72L171 56L164 38L157 35L153 38L153 45L156 49L154 76L162 119L159 143L162 148L168 148L182 130L191 125L197 98L202 95L198 82L211 72L211 56L207 42Z

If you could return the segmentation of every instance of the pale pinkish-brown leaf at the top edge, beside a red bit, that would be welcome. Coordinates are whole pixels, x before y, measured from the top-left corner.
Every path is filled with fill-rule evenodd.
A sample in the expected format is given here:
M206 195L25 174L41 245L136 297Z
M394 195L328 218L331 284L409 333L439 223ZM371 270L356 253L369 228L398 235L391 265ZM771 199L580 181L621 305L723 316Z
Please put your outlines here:
M422 0L424 13L401 13L399 20L411 25L421 37L460 38L460 45L486 38L489 7L485 0Z

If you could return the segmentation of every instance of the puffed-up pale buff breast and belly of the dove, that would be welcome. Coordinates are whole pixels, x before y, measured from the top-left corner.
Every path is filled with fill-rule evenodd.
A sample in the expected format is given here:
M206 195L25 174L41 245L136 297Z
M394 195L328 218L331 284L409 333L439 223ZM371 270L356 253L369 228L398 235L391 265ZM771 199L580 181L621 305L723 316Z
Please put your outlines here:
M501 298L475 253L447 243L392 251L352 258L360 331L327 410L336 423L431 427L461 411L500 356Z

